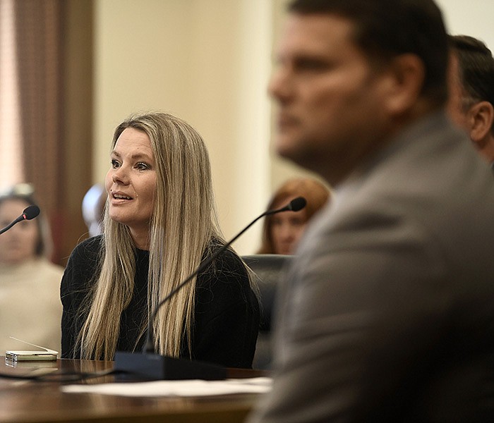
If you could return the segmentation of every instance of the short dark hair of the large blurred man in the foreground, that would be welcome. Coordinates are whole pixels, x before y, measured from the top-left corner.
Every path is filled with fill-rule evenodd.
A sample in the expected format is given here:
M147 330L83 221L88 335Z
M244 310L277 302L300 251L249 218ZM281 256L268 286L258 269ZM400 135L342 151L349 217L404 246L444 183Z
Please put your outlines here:
M301 15L335 14L351 20L354 42L370 61L416 54L426 69L422 94L438 105L445 104L447 33L433 0L294 0L288 10Z

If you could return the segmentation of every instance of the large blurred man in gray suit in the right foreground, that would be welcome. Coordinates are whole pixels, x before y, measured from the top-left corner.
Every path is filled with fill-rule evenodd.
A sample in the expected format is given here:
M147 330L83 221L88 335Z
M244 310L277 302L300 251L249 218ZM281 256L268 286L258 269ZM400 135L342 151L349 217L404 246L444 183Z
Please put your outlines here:
M296 0L270 93L276 149L335 202L278 298L250 422L492 422L494 184L445 115L432 0Z

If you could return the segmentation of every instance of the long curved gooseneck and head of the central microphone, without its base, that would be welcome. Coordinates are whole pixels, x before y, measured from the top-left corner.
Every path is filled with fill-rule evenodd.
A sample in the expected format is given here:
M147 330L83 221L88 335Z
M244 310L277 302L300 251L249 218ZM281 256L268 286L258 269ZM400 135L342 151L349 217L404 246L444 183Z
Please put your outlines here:
M294 200L291 200L286 206L282 207L281 209L275 209L275 210L267 210L267 212L264 212L263 214L260 214L258 217L256 217L251 223L249 223L245 228L243 228L239 233L237 233L234 238L231 238L231 240L228 241L228 243L222 245L215 254L210 255L210 257L207 257L201 264L198 266L195 271L193 271L190 275L188 275L180 284L179 286L176 286L176 288L172 289L171 292L161 300L155 309L153 310L152 314L150 315L150 319L147 323L147 336L146 336L146 343L144 345L144 353L154 353L155 351L155 344L153 341L153 333L152 333L152 324L154 323L156 316L159 312L159 309L164 305L170 298L172 298L183 286L186 286L188 282L191 281L194 276L196 276L200 271L203 271L206 266L209 266L211 262L216 259L224 250L227 250L227 248L234 243L234 241L239 238L240 235L242 235L245 231L247 231L248 228L250 228L256 221L258 221L261 217L268 216L270 214L276 214L276 213L281 213L281 212L299 212L299 210L303 209L303 207L306 207L307 201L304 197L296 197Z

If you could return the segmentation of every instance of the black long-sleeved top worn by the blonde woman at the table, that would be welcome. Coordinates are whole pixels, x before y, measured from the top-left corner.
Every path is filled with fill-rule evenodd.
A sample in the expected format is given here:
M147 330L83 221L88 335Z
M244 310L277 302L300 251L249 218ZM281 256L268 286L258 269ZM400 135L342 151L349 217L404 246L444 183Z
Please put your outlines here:
M215 245L219 248L221 245ZM78 333L87 317L80 306L90 293L95 274L100 271L102 237L80 243L68 259L61 281L61 321L64 358L78 358ZM214 251L214 249L213 249ZM147 314L147 271L149 252L136 250L136 272L133 297L120 318L118 351L141 351L145 334L140 336ZM259 329L258 300L251 289L241 259L226 250L200 274L195 290L195 312L191 351L193 360L226 367L251 368ZM136 346L137 345L137 346ZM189 357L186 340L181 357Z

